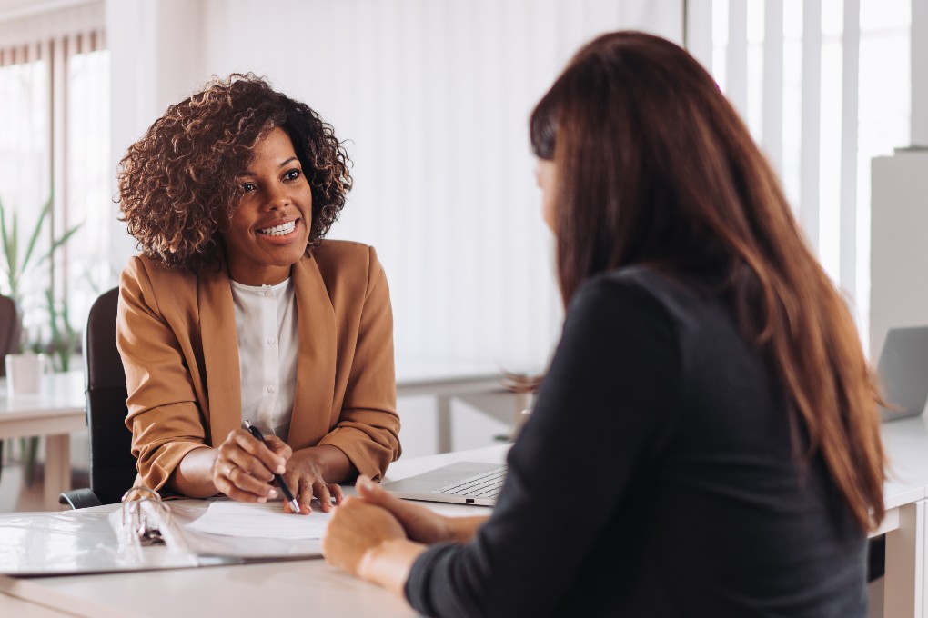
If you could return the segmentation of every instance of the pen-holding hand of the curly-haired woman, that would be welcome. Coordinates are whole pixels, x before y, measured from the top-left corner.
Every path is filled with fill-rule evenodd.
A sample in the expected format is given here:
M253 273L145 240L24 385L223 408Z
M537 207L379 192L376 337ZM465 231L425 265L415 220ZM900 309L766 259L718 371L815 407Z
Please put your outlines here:
M274 474L286 472L293 453L276 435L264 442L245 429L234 429L216 449L213 461L213 485L229 498L241 502L266 502L277 498Z

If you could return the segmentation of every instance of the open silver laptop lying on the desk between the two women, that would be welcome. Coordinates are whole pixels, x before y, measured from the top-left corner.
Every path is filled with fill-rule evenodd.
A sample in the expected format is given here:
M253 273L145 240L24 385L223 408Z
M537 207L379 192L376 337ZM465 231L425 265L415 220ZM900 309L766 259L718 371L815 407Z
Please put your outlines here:
M458 461L381 487L409 500L492 507L505 479L505 463Z

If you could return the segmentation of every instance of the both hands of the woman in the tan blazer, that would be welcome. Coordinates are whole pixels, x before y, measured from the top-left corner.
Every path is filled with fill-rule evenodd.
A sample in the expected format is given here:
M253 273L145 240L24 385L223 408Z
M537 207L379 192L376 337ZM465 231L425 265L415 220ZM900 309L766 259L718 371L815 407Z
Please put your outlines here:
M294 452L277 435L268 435L262 442L244 429L235 429L216 451L213 485L229 498L241 502L281 498L284 509L291 512L275 486L274 474L280 474L303 514L312 512L310 502L314 497L319 499L322 511L331 510L332 500L342 502L342 487L323 478L314 448Z

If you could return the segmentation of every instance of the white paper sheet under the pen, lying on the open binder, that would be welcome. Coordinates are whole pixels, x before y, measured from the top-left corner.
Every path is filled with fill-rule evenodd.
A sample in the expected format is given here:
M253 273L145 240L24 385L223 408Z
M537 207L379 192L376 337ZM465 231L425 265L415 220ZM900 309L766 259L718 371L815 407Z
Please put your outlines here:
M221 500L187 527L213 535L319 539L330 517L331 513L315 509L309 515L284 512L277 500L264 504Z

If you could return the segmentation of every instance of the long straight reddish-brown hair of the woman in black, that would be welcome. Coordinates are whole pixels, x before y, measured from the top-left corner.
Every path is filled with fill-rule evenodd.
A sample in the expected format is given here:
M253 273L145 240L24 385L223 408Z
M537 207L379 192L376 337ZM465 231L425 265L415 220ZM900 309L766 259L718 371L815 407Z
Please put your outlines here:
M530 129L557 169L565 305L590 275L628 264L723 272L741 331L788 392L793 435L806 428L797 455L820 452L860 527L879 524L879 394L854 321L709 73L662 38L605 34L577 52Z

